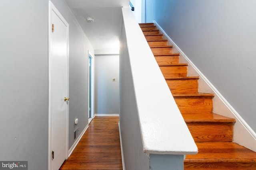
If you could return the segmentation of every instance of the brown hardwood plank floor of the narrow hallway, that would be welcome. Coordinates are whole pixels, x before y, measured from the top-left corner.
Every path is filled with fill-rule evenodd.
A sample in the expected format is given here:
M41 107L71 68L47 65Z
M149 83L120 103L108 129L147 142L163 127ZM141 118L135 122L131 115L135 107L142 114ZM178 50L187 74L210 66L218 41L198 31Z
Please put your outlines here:
M122 170L119 117L95 117L60 170Z

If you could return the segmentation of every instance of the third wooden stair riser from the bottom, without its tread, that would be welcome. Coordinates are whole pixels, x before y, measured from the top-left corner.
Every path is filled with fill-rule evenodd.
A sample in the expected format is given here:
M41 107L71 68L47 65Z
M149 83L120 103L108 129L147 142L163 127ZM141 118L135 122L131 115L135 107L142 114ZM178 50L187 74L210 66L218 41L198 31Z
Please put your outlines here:
M181 113L212 113L212 97L174 97Z

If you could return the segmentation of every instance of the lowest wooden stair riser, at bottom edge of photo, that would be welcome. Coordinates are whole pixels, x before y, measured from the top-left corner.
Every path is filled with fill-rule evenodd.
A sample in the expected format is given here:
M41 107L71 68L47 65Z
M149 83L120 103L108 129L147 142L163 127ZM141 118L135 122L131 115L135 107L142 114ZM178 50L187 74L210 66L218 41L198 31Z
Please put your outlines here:
M255 162L184 162L184 170L256 170Z

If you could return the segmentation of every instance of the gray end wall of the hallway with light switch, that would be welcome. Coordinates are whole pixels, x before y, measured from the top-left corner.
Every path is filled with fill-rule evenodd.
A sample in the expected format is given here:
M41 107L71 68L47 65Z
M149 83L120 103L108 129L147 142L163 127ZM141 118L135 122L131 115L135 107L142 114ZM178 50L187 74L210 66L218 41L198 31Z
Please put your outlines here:
M94 62L94 113L118 114L119 55L96 55Z

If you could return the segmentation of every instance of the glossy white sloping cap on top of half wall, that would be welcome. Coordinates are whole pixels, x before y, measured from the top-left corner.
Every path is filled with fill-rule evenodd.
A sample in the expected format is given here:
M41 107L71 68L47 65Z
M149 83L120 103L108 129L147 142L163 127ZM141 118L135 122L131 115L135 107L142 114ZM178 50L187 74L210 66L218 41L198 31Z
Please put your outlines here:
M198 149L129 8L122 8L144 152L196 154Z

